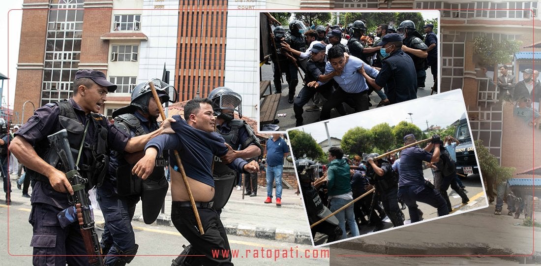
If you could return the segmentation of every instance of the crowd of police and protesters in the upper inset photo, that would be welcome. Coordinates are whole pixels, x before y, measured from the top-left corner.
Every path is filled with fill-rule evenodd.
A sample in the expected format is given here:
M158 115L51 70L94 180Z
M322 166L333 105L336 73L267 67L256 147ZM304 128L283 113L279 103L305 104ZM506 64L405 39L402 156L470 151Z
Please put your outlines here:
M321 111L320 120L326 120L333 108L347 114L344 103L352 112L367 110L372 92L381 98L378 107L415 99L418 88L425 87L428 68L437 92L437 38L433 24L423 28L425 36L410 20L396 29L379 24L375 34L368 32L364 20L345 28L314 25L308 29L300 20L289 23L288 30L279 25L271 35L275 93L282 92L285 73L288 103L293 104L296 126L301 126L310 100L314 105L306 111ZM299 78L304 86L295 97Z

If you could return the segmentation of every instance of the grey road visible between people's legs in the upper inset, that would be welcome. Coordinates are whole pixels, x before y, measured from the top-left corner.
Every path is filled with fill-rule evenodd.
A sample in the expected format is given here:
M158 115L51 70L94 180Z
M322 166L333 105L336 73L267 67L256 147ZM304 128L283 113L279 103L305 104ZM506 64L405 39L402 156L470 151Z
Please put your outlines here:
M273 80L273 68L272 68L272 66L269 65L269 64L264 64L259 69L261 71L261 79L262 80L271 80L271 83L272 83L271 86L272 86L272 90L273 90L273 93L274 93L276 89L274 88L274 82L272 82L272 80ZM434 80L432 78L432 74L430 74L430 69L428 69L427 73L428 73L428 75L426 75L426 82L425 82L425 88L426 89L419 89L417 91L417 98L421 98L421 97L430 95L430 93L432 92L432 90L430 88L434 85ZM299 77L299 79L300 79L300 77ZM278 120L280 121L277 124L277 125L280 126L280 128L278 129L279 131L286 131L289 128L295 127L295 113L293 112L293 103L288 103L287 102L288 88L287 88L287 82L286 82L285 74L283 76L283 81L285 83L282 83L282 97L280 98L280 104L278 106L277 114L286 114L286 116L278 118ZM301 91L302 87L303 87L302 81L299 80L299 84L297 85L297 87L295 89L295 96ZM268 93L269 92L267 90L266 94L268 94ZM372 103L372 107L370 107L370 109L377 108L376 106L378 105L378 103L381 100L379 98L378 94L372 93L370 95L370 99L371 99L371 103ZM261 104L261 102L260 102L260 104ZM305 109L307 107L311 106L311 105L313 105L313 102L309 101L307 103L307 105L305 106ZM353 109L349 108L349 106L346 106L346 109L347 109L347 111L349 113L352 113L352 111L353 111ZM307 124L311 124L313 122L318 121L319 120L319 114L320 114L320 112L306 112L305 111L304 114L303 114L304 124L307 125ZM338 116L340 116L340 114L335 109L333 109L331 111L331 119L336 118Z

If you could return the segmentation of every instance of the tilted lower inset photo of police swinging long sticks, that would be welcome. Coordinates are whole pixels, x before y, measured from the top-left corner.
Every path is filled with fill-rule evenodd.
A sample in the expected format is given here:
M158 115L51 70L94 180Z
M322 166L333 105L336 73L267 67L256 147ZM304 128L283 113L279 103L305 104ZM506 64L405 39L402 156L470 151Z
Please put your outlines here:
M287 133L315 246L489 205L461 90Z

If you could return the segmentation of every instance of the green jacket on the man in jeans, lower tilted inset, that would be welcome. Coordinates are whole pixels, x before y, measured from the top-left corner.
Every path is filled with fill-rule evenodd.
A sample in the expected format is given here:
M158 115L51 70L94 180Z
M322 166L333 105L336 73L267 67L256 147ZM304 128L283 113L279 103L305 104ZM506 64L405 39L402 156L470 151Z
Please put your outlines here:
M351 174L345 159L334 159L327 165L329 196L351 192Z

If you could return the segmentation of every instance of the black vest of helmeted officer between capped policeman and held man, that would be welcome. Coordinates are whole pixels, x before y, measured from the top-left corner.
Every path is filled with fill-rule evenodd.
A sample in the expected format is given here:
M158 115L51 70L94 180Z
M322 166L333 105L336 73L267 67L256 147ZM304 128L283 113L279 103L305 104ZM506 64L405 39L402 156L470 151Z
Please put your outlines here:
M134 114L121 114L115 117L115 126L130 135L132 135L131 132L134 132L135 137L137 137L158 129L160 127L160 123L151 123L151 126L153 126L151 129L153 130L148 131L147 129L144 129L144 127L141 125L141 121ZM130 168L133 168L134 165L135 164L131 165ZM158 154L156 157L154 171L152 171L148 178L153 180L162 179L165 176L165 166L167 166L167 160L164 159L163 154Z

